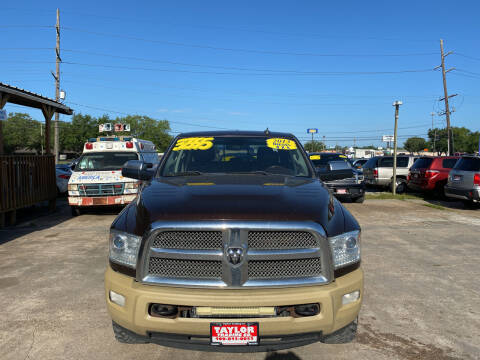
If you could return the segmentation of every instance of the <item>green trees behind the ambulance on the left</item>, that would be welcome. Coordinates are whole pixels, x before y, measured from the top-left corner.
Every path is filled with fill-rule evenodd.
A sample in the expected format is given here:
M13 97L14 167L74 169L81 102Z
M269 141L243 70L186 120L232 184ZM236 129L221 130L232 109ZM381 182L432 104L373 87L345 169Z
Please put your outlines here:
M75 114L71 122L60 122L60 152L72 151L81 153L85 141L92 137L98 137L98 125L104 123L130 124L130 133L115 133L116 135L132 135L144 140L152 141L158 151L165 151L172 136L168 134L170 124L168 120L156 120L148 116L129 115L116 119L110 119L108 115L99 118L91 115ZM51 123L50 147L53 148L54 128ZM41 130L43 136L41 136ZM15 151L31 151L40 153L45 140L45 125L34 120L28 114L12 113L3 127L5 153Z

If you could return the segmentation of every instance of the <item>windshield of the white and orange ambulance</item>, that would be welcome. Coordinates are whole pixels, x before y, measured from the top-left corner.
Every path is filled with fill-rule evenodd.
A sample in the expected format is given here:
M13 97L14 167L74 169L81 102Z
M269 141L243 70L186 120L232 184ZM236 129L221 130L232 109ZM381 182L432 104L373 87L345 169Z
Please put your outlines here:
M128 160L138 160L134 152L98 152L83 154L75 171L120 170Z

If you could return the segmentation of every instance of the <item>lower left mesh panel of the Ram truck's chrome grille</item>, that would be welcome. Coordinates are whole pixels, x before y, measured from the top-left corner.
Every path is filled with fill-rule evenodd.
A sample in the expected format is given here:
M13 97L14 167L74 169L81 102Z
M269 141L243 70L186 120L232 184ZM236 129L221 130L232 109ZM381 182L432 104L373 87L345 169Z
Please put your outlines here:
M222 262L151 258L148 272L166 278L215 279L222 276Z

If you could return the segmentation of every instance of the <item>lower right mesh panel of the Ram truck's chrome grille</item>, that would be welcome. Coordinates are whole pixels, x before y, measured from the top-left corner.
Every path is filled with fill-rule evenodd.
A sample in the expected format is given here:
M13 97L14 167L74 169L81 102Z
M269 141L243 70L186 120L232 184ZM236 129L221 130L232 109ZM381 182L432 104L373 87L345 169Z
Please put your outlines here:
M248 263L249 279L283 279L319 276L322 267L319 258L300 260L259 260Z

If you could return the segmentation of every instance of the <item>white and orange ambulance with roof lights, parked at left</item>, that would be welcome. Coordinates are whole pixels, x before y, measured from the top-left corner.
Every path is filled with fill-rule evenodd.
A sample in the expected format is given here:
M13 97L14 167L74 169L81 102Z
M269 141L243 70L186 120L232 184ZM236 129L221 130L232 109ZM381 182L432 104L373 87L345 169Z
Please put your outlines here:
M91 138L68 182L68 203L72 215L91 206L125 205L138 193L140 181L122 176L129 160L155 165L158 154L151 141L130 136Z

